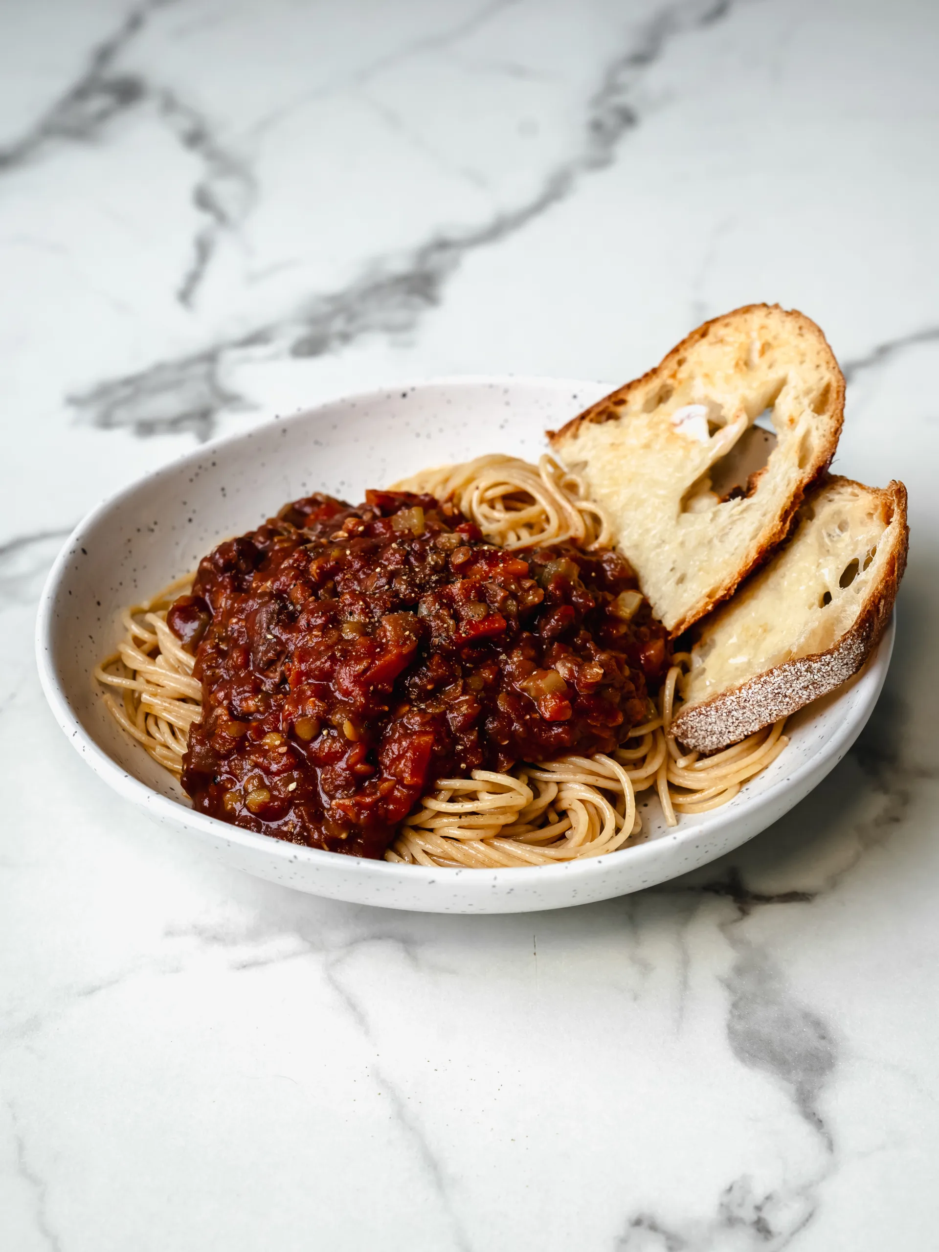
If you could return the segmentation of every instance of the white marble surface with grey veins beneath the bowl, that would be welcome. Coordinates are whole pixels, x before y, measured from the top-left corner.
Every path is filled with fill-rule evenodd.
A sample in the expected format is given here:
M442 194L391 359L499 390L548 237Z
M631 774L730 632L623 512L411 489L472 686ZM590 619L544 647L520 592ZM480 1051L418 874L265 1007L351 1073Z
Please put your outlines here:
M939 10L860 0L0 6L0 1243L936 1246ZM219 869L34 672L104 493L379 379L620 381L754 299L901 477L888 689L692 880L520 918Z

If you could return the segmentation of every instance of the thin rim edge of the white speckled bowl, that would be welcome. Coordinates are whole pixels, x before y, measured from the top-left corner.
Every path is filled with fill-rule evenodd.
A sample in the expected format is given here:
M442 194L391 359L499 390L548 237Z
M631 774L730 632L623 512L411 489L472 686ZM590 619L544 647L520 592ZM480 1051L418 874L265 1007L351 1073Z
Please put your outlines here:
M329 396L309 409L304 409L290 417L277 417L275 422L278 426L282 426L316 421L321 409L326 409L337 403L356 402L358 404L363 404L369 401L379 401L392 392L412 392L424 387L459 387L471 384L512 388L520 386L557 387L563 389L597 387L595 381L588 382L585 379L543 378L520 374L457 374L427 377L413 381L396 382L387 386L371 387L361 392ZM712 814L709 815L710 820L706 821L701 821L700 819L687 820L687 815L685 815L681 824L674 830L674 833L659 835L647 843L635 844L634 846L607 853L602 856L562 861L557 865L505 868L483 871L468 868L449 869L446 866L399 865L384 860L364 860L354 856L342 856L339 853L329 853L318 848L289 844L282 840L272 839L269 835L259 835L254 831L244 830L240 826L219 821L217 818L210 818L205 814L187 809L178 801L160 795L146 786L146 784L133 777L133 775L128 774L125 769L123 769L101 747L99 747L79 721L53 661L51 632L56 607L59 607L58 598L61 591L63 577L80 551L83 537L96 525L103 515L108 513L119 503L133 497L144 483L154 483L163 478L170 478L178 475L182 470L194 466L199 461L204 461L207 454L213 451L243 443L257 434L257 432L258 426L254 426L249 431L223 436L222 438L203 443L194 451L177 457L165 466L140 476L126 487L123 487L120 491L101 501L78 523L49 572L36 615L35 646L39 679L56 721L61 726L71 745L81 755L83 760L95 771L95 774L98 774L99 777L101 777L119 795L149 811L160 821L168 821L175 826L202 831L214 840L224 839L224 841L229 845L238 845L247 850L270 856L275 860L283 860L284 863L292 861L295 864L298 860L302 860L308 861L313 866L322 865L323 868L336 868L337 858L341 858L344 863L343 869L354 873L357 876L366 875L368 878L373 878L377 883L402 880L402 876L404 876L403 880L406 883L416 885L414 876L417 875L424 881L426 885L436 883L444 886L448 880L453 881L458 878L466 878L470 875L472 879L480 879L481 889L485 886L486 894L488 895L498 894L503 889L508 890L510 886L512 890L520 890L521 894L521 889L523 889L523 886L533 885L536 881L547 888L548 880L556 881L558 879L565 879L572 888L575 885L586 886L592 883L593 879L601 878L613 859L623 856L629 856L631 859L632 868L637 874L641 874L644 870L652 870L651 876L647 879L650 885L652 883L677 876L682 873L684 870L676 868L672 873L656 875L654 866L655 863L662 858L666 848L671 848L674 851L675 845L692 844L702 833L716 835L721 824L720 819L715 819ZM830 739L828 739L826 742L821 745L820 750L804 759L803 762L793 770L793 772L781 776L776 782L759 793L752 794L752 796L745 798L744 803L740 804L734 813L735 819L740 819L744 813L747 811L750 813L751 819L757 816L759 810L765 809L777 811L777 800L784 793L798 791L805 776L816 772L818 779L810 785L810 790L811 786L816 785L818 781L820 781L820 779L824 777L825 774L828 774L829 770L841 760L860 734L874 709L874 705L876 704L886 677L890 655L893 652L894 635L895 623L891 618L875 655L870 659L864 670L850 681L851 687L855 687L856 685L863 689L856 692L860 695L860 699L855 701L851 709L851 716L845 717L839 729L830 736ZM765 826L770 825L772 820L775 819L769 818L762 826L759 825L759 819L756 823L751 821L755 828L752 834L765 829ZM752 834L737 840L735 846L746 841L746 839L752 838ZM666 859L670 859L667 854ZM699 861L696 861L696 864ZM571 903L580 901L571 900Z

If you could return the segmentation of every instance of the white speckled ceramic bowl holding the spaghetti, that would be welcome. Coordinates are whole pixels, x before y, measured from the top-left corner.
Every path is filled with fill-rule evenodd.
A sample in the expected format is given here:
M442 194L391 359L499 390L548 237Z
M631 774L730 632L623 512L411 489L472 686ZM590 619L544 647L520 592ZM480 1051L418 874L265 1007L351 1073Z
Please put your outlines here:
M590 860L459 870L298 848L193 813L173 777L114 724L91 671L120 635L123 605L194 568L228 535L323 490L359 501L423 466L483 452L537 459L557 428L606 388L537 378L456 378L333 401L207 444L91 512L49 576L36 622L39 674L70 742L105 782L160 823L260 878L359 904L429 913L521 913L637 891L721 856L793 808L841 760L884 682L893 629L865 671L791 721L791 744L725 805L682 816L641 805L647 841Z

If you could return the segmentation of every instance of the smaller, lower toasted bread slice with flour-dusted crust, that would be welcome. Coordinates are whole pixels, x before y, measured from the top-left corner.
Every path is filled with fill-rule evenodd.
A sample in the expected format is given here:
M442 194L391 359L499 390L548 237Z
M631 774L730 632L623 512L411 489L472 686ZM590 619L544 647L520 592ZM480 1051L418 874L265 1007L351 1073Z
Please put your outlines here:
M890 620L906 565L906 488L833 476L795 533L701 627L670 732L712 752L840 686Z

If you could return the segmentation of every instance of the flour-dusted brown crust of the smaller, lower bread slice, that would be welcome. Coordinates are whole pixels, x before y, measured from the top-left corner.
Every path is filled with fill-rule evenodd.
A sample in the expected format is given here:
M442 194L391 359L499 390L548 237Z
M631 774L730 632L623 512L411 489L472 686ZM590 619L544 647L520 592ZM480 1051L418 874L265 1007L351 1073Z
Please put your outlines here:
M780 717L788 717L853 677L880 642L906 568L906 488L896 481L884 488L864 487L863 483L835 476L830 481L861 487L876 495L884 508L889 510L890 525L899 520L880 578L868 591L854 623L830 649L784 661L710 700L681 709L669 734L686 750L715 752Z

